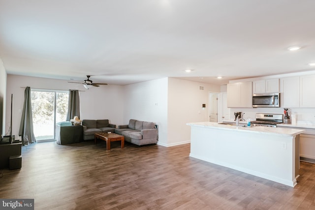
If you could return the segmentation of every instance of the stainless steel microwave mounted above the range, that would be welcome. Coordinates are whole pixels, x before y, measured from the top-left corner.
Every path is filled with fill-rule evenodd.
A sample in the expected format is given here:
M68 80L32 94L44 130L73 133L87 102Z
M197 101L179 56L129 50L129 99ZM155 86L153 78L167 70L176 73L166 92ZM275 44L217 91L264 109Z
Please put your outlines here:
M280 107L280 92L252 94L252 107Z

